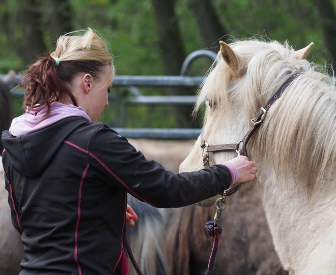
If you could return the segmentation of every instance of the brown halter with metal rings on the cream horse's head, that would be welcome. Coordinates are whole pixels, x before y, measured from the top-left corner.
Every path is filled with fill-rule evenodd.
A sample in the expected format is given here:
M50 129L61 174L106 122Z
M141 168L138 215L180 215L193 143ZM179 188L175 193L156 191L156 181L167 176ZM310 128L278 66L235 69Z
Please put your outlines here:
M279 99L284 90L289 86L289 84L299 76L300 73L296 73L292 75L290 78L286 80L286 82L279 87L279 89L276 91L276 93L273 95L273 97L267 102L267 104L264 107L261 107L255 118L251 119L251 127L249 128L248 132L244 136L244 138L239 141L238 143L228 143L228 144L219 144L219 145L209 145L204 140L204 131L202 130L201 133L201 148L202 148L202 156L203 156L203 165L205 168L208 168L210 166L209 164L209 153L210 152L218 152L218 151L228 151L228 150L235 150L238 153L238 156L243 155L248 157L247 155L247 142L251 135L255 132L255 130L258 128L258 125L260 125L263 120L265 119L266 112L268 109L275 103L277 99ZM240 143L242 143L242 149L240 150ZM233 185L226 191L224 191L223 195L225 196L231 196L232 194L236 193L240 186L243 184L243 182L239 182L238 184Z

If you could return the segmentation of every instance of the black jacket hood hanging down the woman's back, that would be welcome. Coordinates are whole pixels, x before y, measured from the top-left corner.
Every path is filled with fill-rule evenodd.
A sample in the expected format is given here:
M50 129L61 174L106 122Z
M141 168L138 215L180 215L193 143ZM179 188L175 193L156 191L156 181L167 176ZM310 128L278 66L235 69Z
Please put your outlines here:
M73 121L69 123L69 120ZM25 176L34 177L43 172L66 137L87 123L85 118L72 116L20 137L3 131L2 142L14 169Z

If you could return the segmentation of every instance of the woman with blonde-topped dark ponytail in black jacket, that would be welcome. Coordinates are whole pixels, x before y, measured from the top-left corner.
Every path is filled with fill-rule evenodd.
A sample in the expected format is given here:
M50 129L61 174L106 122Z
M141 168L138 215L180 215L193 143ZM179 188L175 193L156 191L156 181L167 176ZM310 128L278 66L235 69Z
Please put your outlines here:
M253 180L253 162L174 174L96 122L114 77L92 29L60 37L26 71L25 113L2 136L12 221L26 274L127 274L125 223L137 216L127 193L156 207L181 207Z

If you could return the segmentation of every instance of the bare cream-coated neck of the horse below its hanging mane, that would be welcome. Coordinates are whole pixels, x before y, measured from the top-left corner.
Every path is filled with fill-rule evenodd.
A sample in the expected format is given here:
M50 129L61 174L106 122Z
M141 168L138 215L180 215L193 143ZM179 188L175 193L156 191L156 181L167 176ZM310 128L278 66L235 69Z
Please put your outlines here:
M265 159L257 164L257 178L274 247L285 269L304 274L300 272L312 257L319 261L324 255L315 255L316 248L328 246L326 240L334 236L336 185L322 184L309 197L294 180L278 182L271 163ZM335 255L335 250L330 253Z

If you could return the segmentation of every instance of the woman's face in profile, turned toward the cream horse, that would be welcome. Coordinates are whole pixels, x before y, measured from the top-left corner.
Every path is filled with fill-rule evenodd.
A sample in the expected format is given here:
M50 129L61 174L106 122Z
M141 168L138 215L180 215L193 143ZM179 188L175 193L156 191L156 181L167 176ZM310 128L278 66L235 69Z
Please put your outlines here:
M110 76L112 74L111 67L106 65L103 73L98 79L90 77L91 88L88 93L87 114L93 122L100 119L100 114L104 108L108 106L108 91L112 87L112 83L109 83Z

